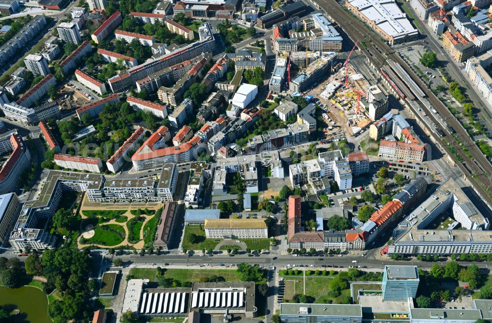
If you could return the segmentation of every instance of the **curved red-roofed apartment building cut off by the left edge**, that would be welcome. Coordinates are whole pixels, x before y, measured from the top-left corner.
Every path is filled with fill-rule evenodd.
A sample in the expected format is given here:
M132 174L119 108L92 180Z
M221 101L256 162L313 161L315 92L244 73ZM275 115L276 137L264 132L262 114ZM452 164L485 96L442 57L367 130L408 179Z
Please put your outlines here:
M31 153L17 132L8 132L0 137L0 154L10 152L0 169L0 194L12 192L19 176L31 165Z

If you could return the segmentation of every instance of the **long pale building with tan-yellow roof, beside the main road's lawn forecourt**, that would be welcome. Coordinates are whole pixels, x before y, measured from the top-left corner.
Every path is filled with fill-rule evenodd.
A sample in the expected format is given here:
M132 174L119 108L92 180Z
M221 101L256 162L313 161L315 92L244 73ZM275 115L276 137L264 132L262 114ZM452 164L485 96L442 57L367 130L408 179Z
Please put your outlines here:
M206 219L204 228L211 239L268 238L265 219Z

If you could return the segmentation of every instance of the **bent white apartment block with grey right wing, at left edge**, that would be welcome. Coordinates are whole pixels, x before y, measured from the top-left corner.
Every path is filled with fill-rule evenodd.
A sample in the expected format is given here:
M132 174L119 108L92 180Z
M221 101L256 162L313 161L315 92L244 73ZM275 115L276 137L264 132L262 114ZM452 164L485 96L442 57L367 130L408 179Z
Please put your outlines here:
M60 118L60 108L55 101L47 102L34 108L25 108L15 102L5 103L1 107L6 118L25 125L36 125L39 121Z

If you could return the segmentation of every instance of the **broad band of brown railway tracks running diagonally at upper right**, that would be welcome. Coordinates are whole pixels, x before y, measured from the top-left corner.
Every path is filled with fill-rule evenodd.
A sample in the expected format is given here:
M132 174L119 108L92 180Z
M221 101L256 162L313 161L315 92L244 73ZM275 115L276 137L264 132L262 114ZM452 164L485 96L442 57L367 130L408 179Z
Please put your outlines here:
M468 180L475 184L475 189L482 195L482 198L487 201L489 206L492 206L492 199L484 189L484 187L488 189L491 184L490 176L492 176L492 165L482 151L473 143L461 123L448 111L441 101L434 96L426 85L423 84L423 82L400 58L400 56L395 53L386 43L381 41L379 36L377 36L373 31L368 30L368 27L364 23L359 21L357 18L352 17L342 6L338 4L336 0L316 0L316 3L338 23L338 26L345 31L352 41L355 42L359 40L359 43L365 43L366 46L359 46L359 48L367 56L369 61L376 67L376 70L380 70L383 66L388 66L389 64L387 59L391 59L400 64L410 78L427 95L427 100L429 100L431 106L439 113L440 117L442 117L448 125L455 129L455 137L461 142L462 146L455 142L455 139L451 136L448 129L445 129L440 125L439 120L434 117L422 101L417 100L416 102L422 111L427 113L427 116L430 117L436 127L441 129L441 131L445 134L442 138L446 139L449 145L454 148L456 154L461 156L463 163L458 160L458 158L447 146L442 145L445 151L455 161ZM417 115L419 114L417 113ZM421 116L419 115L419 117ZM468 157L466 152L463 150L463 147L468 150L468 153L472 156L472 158Z

